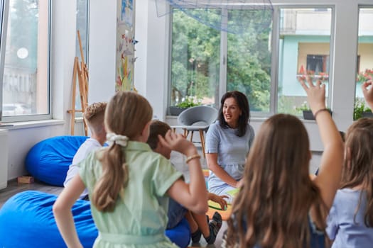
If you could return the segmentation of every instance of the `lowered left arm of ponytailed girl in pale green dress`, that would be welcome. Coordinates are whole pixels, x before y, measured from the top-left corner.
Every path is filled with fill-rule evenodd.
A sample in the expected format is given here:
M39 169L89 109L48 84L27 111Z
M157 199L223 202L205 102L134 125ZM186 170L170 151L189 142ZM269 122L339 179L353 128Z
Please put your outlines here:
M80 175L77 174L63 189L53 205L55 222L57 223L58 230L60 230L67 247L82 247L82 244L77 237L71 208L84 189L85 185L83 184L82 179L80 179Z

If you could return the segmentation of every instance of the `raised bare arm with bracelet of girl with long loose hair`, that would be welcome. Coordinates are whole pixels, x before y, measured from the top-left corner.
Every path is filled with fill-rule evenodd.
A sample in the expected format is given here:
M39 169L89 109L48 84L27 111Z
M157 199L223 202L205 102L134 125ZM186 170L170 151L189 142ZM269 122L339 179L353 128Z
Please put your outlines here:
M335 193L340 187L343 142L330 113L320 111L325 109L325 84L321 84L320 81L313 84L312 80L308 78L307 86L302 79L300 81L303 89L306 90L308 103L313 115L315 115L321 141L324 145L320 170L314 182L320 188L321 197L329 210L333 204Z

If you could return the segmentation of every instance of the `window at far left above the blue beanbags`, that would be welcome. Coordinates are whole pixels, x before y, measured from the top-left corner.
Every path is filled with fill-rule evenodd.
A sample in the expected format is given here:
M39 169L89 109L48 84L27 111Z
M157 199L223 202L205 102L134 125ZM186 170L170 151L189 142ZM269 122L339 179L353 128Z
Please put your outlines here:
M10 0L8 12L2 120L50 118L50 1Z

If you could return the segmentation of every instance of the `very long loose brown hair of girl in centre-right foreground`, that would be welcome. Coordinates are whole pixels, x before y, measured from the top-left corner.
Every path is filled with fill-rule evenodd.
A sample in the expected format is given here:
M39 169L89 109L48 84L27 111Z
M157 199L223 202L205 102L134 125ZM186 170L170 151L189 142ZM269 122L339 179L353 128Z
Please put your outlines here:
M309 247L311 206L323 227L327 212L310 180L309 149L306 128L295 116L273 115L261 125L228 220L228 247Z

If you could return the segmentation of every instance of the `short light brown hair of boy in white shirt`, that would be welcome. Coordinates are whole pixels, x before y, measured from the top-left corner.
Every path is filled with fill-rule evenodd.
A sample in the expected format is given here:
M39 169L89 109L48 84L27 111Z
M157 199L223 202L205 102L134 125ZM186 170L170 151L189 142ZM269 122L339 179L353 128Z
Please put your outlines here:
M90 127L92 133L100 133L102 132L102 128L104 127L104 115L107 103L98 102L92 103L85 109L85 113L83 113L83 117L87 125Z

